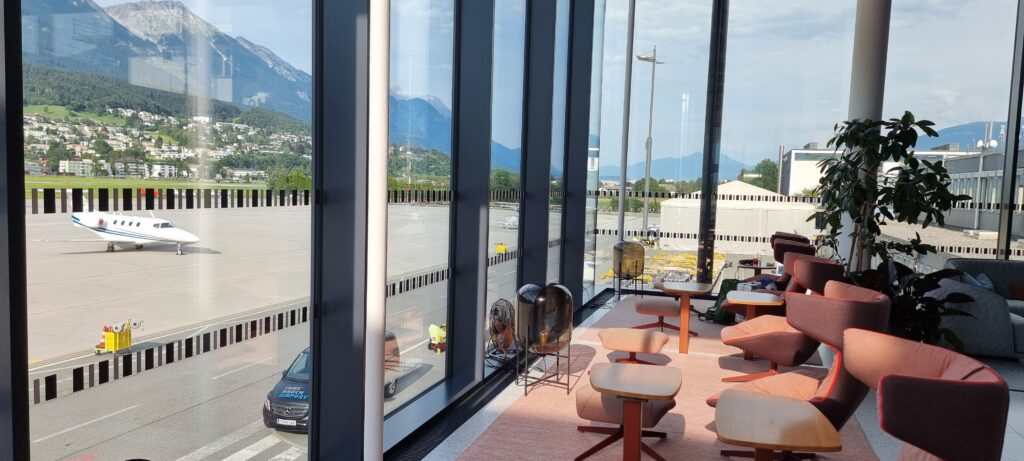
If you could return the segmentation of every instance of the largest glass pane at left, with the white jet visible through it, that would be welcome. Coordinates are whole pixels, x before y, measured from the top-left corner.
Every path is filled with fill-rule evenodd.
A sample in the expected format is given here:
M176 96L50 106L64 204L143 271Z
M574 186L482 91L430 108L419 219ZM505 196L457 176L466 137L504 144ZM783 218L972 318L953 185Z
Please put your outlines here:
M23 2L34 459L305 459L312 2Z

